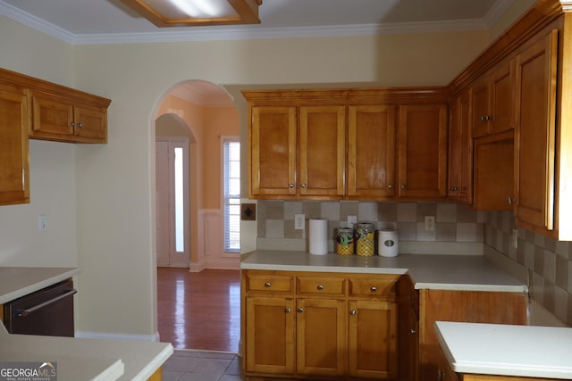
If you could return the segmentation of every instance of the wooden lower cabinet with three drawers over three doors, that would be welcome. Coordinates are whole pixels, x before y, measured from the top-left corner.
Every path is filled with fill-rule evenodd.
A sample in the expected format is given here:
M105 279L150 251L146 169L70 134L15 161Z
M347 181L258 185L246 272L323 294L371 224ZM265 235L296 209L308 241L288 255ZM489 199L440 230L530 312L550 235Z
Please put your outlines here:
M397 380L399 277L242 270L245 376Z

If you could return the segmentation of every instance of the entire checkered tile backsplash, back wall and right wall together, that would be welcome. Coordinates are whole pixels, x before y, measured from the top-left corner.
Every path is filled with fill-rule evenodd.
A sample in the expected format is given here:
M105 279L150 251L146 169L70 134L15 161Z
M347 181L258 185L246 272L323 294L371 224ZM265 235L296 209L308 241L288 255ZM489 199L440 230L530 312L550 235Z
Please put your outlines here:
M348 226L348 216L398 230L400 241L484 243L528 269L532 298L572 326L572 243L515 228L510 211L474 211L457 203L374 203L326 201L258 201L257 247L307 250L307 229L294 228L294 215L328 219L328 250L333 252L334 228ZM435 229L425 230L425 216L435 217ZM307 228L307 227L306 227Z

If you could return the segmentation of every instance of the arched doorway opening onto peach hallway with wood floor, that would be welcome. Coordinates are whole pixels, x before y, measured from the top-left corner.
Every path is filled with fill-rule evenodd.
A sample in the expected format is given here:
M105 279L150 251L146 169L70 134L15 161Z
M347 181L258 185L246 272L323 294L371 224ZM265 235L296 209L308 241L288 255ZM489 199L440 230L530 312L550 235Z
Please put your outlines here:
M156 140L187 138L189 145L189 264L157 269L159 335L177 349L239 349L240 253L224 252L222 234L222 148L229 136L240 136L238 112L212 83L181 83L157 109Z

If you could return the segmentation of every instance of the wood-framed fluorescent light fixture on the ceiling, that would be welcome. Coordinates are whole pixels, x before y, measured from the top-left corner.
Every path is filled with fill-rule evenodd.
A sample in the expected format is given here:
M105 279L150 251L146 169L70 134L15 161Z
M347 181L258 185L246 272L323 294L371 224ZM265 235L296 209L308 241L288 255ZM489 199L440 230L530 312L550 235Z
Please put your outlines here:
M122 0L157 27L259 24L262 0Z

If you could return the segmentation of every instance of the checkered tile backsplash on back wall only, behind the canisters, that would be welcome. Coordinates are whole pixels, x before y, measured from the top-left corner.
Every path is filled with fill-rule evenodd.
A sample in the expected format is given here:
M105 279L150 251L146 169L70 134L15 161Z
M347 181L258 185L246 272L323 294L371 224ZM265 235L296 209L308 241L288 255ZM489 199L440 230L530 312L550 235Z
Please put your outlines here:
M397 229L400 241L475 243L484 241L484 212L456 203L374 203L325 201L259 201L258 247L307 250L307 229L294 228L294 216L328 219L328 249L333 252L335 228L346 228L348 216L374 222L376 229ZM434 230L425 229L425 216L435 218Z

